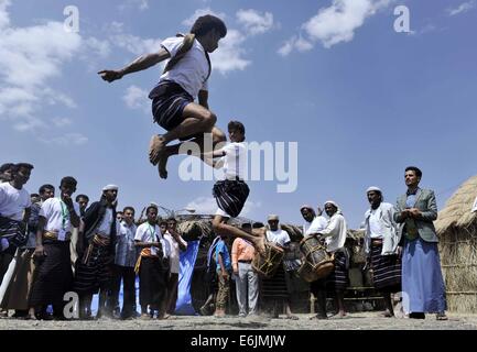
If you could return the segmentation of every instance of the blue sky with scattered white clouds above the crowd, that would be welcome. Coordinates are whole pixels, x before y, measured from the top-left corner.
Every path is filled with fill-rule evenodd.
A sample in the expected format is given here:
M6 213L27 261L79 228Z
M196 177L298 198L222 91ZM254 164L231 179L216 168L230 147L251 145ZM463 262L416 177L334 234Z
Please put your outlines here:
M400 4L410 33L394 31ZM66 6L79 10L78 33L63 29ZM121 207L215 209L213 182L178 179L183 158L171 160L167 180L148 162L162 129L147 96L161 67L112 85L96 75L204 12L229 29L212 56L218 127L239 119L248 141L299 143L297 189L250 182L245 216L302 223L302 204L334 199L357 228L366 188L394 202L408 165L422 168L440 208L477 173L475 0L0 0L0 163L34 164L30 191L72 175L93 200L113 183Z

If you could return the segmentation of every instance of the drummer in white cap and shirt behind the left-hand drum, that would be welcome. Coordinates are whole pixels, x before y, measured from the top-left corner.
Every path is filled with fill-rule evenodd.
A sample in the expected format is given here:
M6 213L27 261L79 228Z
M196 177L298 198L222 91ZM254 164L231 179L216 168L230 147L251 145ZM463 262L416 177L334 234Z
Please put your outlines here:
M270 215L268 222L269 230L267 231L267 240L281 246L284 251L289 251L291 242L290 235L279 227L279 216ZM286 319L299 319L299 317L292 314L290 308L290 293L286 287L283 263L280 263L275 274L271 278L263 278L261 297L262 301L271 310L272 318L279 318L279 312L283 311L284 305Z

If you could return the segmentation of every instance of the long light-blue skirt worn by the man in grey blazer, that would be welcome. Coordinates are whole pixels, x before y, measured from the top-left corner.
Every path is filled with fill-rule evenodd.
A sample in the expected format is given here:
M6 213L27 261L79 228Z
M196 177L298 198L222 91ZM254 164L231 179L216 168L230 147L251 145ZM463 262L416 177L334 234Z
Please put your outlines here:
M404 242L402 255L404 311L442 312L447 309L437 243L421 238Z

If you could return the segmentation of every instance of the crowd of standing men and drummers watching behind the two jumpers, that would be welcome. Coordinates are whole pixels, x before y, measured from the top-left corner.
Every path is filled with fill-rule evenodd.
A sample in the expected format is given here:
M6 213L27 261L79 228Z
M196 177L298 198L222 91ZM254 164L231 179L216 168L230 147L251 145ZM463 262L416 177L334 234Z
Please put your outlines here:
M25 163L0 167L0 295L1 315L24 319L65 319L64 295L79 297L79 318L100 317L166 319L174 314L180 277L180 253L187 249L174 218L159 220L158 206L145 209L145 221L135 221L135 211L126 207L117 211L118 187L107 185L98 201L89 204L86 195L73 200L77 182L64 177L59 195L46 184L30 195L24 185L33 166ZM383 316L392 317L391 293L403 293L403 307L410 318L422 319L425 312L445 320L445 287L441 273L437 237L433 220L436 200L430 189L421 189L422 172L405 169L408 190L397 204L383 201L382 190L366 191L370 208L365 215L365 244L375 286L382 292ZM348 286L349 253L345 248L347 223L339 206L328 200L322 215L318 208L302 206L303 235L316 237L333 254L334 270L325 278L311 283L317 314L327 319L329 294L336 301L336 315L347 315L344 292ZM207 256L209 296L200 314L226 315L234 278L239 317L269 314L297 319L291 311L285 276L303 264L293 255L290 234L280 227L277 215L263 224L243 224L245 233L262 228L265 241L284 250L282 263L271 277L259 277L252 261L262 255L257 242L220 234L214 239ZM137 314L135 277L139 276ZM119 307L121 282L123 305ZM91 314L93 296L98 295L98 311ZM259 301L264 307L259 307ZM53 308L52 314L47 307Z

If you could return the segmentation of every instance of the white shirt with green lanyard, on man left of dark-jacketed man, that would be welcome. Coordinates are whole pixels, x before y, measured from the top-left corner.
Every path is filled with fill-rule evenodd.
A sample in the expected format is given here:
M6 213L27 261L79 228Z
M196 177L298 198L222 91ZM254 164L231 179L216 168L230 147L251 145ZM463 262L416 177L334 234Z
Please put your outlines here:
M63 208L62 208L63 204ZM73 208L79 217L79 206L74 202ZM72 231L72 222L69 219L69 211L66 205L59 198L46 199L40 209L40 217L46 219L45 230L48 232L58 232L64 229L66 232ZM63 218L64 217L64 218ZM64 222L63 222L64 220Z

